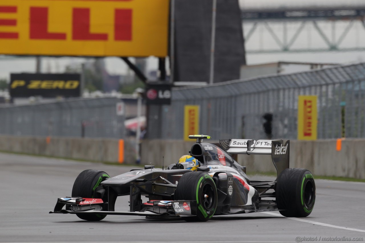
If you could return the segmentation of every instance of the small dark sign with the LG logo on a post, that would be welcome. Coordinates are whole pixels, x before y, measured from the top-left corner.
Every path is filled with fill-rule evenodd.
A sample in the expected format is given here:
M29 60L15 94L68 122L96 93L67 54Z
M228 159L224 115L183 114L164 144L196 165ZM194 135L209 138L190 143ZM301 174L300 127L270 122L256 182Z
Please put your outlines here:
M149 105L169 105L171 104L171 85L149 84L145 96Z

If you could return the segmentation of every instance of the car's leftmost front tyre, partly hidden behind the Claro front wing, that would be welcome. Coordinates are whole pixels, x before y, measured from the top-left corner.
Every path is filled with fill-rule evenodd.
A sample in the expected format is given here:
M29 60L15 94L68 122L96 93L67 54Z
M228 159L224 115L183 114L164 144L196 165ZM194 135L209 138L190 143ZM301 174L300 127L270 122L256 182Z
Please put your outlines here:
M105 181L110 176L104 171L100 170L84 170L76 178L72 187L72 197L93 198L95 189L100 186L102 181ZM88 221L99 221L106 217L106 215L81 215L77 217Z

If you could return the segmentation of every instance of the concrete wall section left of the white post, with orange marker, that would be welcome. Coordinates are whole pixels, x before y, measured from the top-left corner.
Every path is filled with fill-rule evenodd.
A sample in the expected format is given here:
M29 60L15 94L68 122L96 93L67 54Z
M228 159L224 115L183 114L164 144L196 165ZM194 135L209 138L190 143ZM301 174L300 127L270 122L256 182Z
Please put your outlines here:
M118 162L119 140L104 138L67 138L0 136L0 150L88 161ZM135 162L135 149L124 140L124 163Z

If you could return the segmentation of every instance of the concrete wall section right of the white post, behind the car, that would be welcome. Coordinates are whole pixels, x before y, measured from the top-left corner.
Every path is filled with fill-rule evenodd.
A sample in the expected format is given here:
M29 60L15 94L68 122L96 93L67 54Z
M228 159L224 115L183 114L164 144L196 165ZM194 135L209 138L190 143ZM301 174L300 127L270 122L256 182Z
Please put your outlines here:
M336 151L336 140L290 141L290 167L306 168L314 175L352 177L365 179L365 139L342 141L341 151ZM155 166L176 163L189 154L193 142L180 140L144 140L142 163ZM247 166L247 172L276 172L268 155L238 155L238 162Z

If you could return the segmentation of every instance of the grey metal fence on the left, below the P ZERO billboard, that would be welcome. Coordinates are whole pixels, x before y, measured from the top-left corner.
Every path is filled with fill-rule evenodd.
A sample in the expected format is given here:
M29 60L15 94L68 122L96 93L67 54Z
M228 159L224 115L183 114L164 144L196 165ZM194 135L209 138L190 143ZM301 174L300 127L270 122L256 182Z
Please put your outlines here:
M0 107L0 134L123 138L124 116L117 98L72 99L46 104Z

